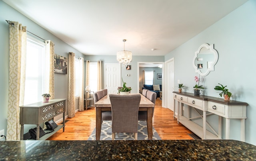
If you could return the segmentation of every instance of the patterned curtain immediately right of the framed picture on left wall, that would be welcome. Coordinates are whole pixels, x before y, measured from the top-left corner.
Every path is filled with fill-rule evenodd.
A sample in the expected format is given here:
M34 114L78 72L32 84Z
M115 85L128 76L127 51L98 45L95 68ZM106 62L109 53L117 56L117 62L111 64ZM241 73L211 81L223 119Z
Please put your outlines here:
M68 117L75 116L75 53L68 54Z

